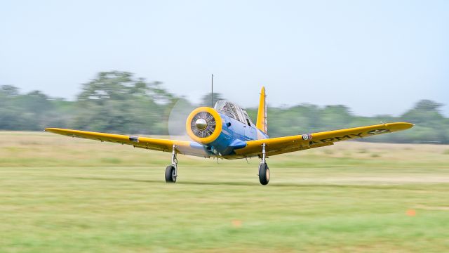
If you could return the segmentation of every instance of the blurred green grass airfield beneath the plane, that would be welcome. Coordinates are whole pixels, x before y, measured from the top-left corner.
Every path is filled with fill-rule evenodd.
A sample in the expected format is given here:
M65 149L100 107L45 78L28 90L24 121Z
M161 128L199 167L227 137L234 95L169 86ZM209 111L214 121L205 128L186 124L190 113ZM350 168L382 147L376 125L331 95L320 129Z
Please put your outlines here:
M259 160L0 132L0 252L447 252L449 146L336 143Z

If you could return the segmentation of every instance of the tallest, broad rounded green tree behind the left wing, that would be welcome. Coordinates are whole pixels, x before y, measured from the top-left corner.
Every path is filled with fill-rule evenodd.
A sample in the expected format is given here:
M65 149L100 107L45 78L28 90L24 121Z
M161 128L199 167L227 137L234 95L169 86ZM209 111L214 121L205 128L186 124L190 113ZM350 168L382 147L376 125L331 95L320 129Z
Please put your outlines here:
M83 84L72 121L76 128L135 134L165 134L164 103L173 96L161 82L147 83L129 72L100 72Z

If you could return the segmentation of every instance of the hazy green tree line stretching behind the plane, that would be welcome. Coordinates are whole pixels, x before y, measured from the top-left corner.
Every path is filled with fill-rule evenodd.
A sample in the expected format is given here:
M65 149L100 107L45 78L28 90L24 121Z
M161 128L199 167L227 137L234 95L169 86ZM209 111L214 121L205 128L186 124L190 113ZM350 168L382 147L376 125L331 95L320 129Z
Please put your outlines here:
M213 100L222 98L215 93ZM83 84L76 100L51 98L41 91L20 93L11 85L0 86L0 129L41 131L54 126L121 134L168 134L168 117L182 100L163 88L161 82L147 82L130 72L100 72ZM210 94L201 105L210 106ZM193 107L194 105L192 105ZM396 134L365 138L361 141L394 143L449 143L449 118L440 103L420 100L399 117L378 115L361 117L344 105L301 104L289 108L268 108L269 136L328 131L380 122L411 122L413 129ZM247 108L255 120L257 108Z

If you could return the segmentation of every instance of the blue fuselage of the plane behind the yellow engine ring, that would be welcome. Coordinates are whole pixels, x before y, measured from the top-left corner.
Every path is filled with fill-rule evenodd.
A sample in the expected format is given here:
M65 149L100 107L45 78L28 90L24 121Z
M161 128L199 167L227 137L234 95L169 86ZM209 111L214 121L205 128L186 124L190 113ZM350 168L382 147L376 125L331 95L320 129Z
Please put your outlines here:
M246 141L268 138L267 134L264 134L254 125L244 124L221 112L219 112L219 115L222 118L222 131L220 135L215 141L202 145L209 155L234 155L235 149L246 147ZM198 145L201 144L198 143Z

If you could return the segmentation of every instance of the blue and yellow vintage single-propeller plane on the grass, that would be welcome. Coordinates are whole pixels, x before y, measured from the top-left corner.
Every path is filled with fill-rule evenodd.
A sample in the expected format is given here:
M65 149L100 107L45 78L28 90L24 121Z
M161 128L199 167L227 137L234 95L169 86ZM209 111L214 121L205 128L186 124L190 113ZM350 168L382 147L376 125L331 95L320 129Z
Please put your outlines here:
M214 108L196 108L187 117L185 128L192 141L176 141L161 138L147 138L119 134L104 134L92 131L47 128L55 134L88 138L95 141L108 141L171 152L171 164L166 167L166 182L175 183L177 179L177 154L221 159L259 157L259 180L262 185L269 182L269 168L266 158L272 155L319 148L333 145L337 141L354 140L377 134L410 129L413 124L394 122L360 126L349 129L323 131L269 138L267 134L267 104L265 89L260 92L256 124L248 113L238 105L227 100L218 100Z

